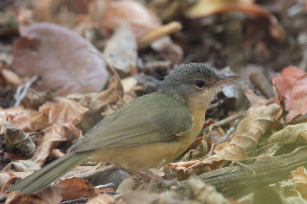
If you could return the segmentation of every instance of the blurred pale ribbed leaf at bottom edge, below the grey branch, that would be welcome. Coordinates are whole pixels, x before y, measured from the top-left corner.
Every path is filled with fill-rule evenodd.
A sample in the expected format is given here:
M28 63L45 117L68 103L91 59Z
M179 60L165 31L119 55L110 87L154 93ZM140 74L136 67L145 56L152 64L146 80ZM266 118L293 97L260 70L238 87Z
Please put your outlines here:
M202 180L196 176L192 176L188 180L188 187L191 189L192 194L195 196L196 200L201 203L208 204L230 204L229 201L219 192L216 188L210 184L205 184Z

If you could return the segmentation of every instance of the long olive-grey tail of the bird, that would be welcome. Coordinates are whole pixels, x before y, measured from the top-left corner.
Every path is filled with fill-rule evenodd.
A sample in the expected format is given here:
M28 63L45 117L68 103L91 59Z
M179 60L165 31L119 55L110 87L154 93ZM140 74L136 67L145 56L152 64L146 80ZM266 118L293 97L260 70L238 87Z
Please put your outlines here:
M52 161L42 169L12 185L8 191L20 190L24 194L34 194L42 191L60 176L86 161L90 154L91 151L82 153L68 152L63 157Z

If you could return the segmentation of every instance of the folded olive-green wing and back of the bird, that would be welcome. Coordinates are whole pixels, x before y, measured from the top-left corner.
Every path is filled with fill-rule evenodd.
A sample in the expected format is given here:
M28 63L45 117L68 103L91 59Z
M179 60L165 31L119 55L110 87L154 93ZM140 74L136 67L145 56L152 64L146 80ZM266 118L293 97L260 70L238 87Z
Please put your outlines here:
M164 106L164 103L170 102ZM136 107L138 106L139 107ZM181 103L136 103L100 121L72 149L86 151L101 147L125 147L176 140L191 128L192 116Z

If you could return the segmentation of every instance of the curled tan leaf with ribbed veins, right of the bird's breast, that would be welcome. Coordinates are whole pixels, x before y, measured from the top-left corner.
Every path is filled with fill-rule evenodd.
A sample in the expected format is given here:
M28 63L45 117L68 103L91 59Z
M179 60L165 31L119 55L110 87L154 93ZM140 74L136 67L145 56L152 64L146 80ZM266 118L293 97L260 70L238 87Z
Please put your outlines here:
M215 155L205 158L201 164L210 165L223 160L240 161L248 159L248 152L254 150L258 140L273 123L279 107L277 104L270 106L251 107L246 116L239 122L234 137L230 143L222 143L214 148ZM198 171L201 165L195 165L186 169L192 173Z

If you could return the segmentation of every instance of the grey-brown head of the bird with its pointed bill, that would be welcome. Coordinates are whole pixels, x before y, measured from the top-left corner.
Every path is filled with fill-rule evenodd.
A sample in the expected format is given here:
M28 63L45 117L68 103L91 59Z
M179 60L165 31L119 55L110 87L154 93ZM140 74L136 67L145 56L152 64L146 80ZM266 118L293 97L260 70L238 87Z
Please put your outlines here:
M220 91L221 85L240 76L218 76L201 63L184 64L165 76L158 92L187 102L190 106L206 108Z

